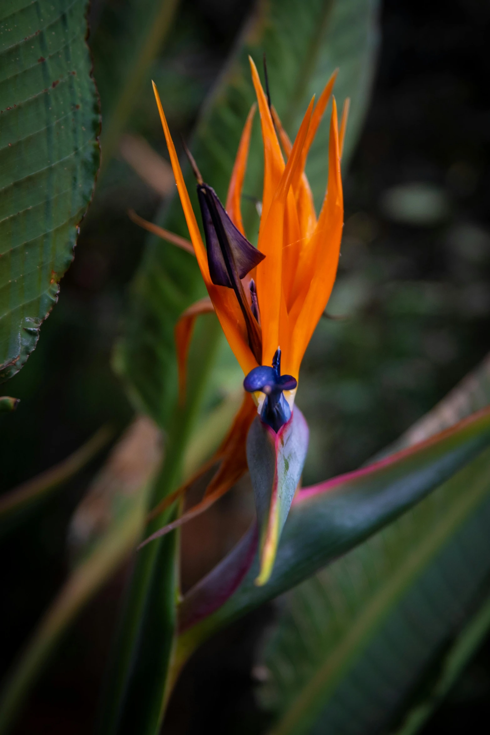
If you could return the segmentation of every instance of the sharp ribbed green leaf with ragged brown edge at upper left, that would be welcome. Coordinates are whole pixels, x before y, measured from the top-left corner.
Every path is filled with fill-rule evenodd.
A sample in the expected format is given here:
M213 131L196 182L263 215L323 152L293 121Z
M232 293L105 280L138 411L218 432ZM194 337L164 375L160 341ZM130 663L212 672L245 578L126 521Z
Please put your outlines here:
M0 379L35 348L92 198L100 129L86 0L0 10Z

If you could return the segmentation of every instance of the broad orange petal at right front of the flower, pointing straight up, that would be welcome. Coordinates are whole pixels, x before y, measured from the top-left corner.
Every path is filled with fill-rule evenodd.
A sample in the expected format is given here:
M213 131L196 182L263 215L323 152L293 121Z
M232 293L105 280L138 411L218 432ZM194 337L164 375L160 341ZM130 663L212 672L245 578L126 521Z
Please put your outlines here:
M297 375L306 346L325 310L339 264L340 240L344 218L342 179L340 176L339 132L335 98L332 101L330 141L328 146L328 188L311 238L309 278L305 276L303 304L292 325L291 350L284 356L284 372ZM301 297L298 297L301 298ZM295 304L296 306L296 304ZM296 309L295 309L296 311Z

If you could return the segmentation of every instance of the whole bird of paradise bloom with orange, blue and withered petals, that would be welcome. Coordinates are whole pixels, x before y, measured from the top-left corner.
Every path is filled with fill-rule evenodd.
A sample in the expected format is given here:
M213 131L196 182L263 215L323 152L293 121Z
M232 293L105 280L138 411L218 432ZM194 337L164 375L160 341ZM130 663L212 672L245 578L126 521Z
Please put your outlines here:
M263 485L263 476L267 472L270 474L270 467L265 466L270 457L275 455L277 459L278 453L284 452L284 447L289 445L296 465L295 473L292 473L292 492L289 490L281 495L277 467L273 468L271 481L265 483L267 497L264 498L263 487L256 491L261 526L261 563L256 584L265 584L273 569L278 539L306 457L308 428L299 409L295 408L295 393L301 360L330 298L339 261L344 216L340 159L348 100L339 130L336 101L332 98L328 183L317 218L304 168L309 148L331 98L336 72L325 85L316 106L314 98L311 99L292 144L277 112L269 104L252 59L250 65L264 143L264 187L257 248L245 237L240 207L255 104L248 114L239 142L225 207L215 191L203 182L198 166L187 151L197 179L205 247L162 103L156 85L153 85L192 245L173 233L145 223L136 215L133 218L166 240L192 251L209 294L209 298L190 306L176 325L179 395L185 395L187 354L195 319L204 312L216 312L226 339L245 373L242 406L222 445L190 481L153 509L151 517L184 495L198 476L219 462L203 500L145 539L143 545L209 508L249 468L253 479L256 478L256 485ZM272 453L267 447L273 449ZM286 465L289 461L290 456Z

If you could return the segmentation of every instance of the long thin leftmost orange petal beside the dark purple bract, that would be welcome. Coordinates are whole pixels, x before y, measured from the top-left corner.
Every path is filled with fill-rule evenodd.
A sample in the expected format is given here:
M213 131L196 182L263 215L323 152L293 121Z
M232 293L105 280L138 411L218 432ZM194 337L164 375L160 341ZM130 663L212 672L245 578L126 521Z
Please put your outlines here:
M198 259L198 265L203 276L203 281L206 284L209 296L215 306L217 318L220 320L226 339L228 340L231 349L234 351L240 367L246 375L250 370L256 368L257 361L252 354L251 348L248 346L245 321L234 293L225 287L215 286L209 276L206 248L204 247L201 232L199 231L198 223L195 219L195 214L192 211L192 205L190 204L190 198L187 193L184 176L182 176L179 159L177 158L176 149L173 145L172 137L170 136L170 130L168 129L167 120L165 119L165 113L163 112L162 102L160 101L155 83L152 82L152 84L160 120L162 121L163 132L165 133L165 140L167 141L168 152L170 154L170 163L172 164L173 175L176 179L182 209L184 209L184 215L187 227L189 228L190 239L192 240L192 245L194 247L195 257Z

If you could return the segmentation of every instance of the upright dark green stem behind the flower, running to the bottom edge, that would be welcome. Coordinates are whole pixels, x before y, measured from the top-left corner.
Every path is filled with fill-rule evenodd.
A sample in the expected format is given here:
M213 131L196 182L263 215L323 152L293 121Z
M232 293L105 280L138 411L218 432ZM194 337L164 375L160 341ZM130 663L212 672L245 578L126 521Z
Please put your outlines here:
M174 490L182 476L182 460L195 425L215 352L223 339L215 315L200 318L190 348L187 398L178 406L167 431L165 462L156 478L150 506ZM174 505L148 523L147 537L173 520ZM148 544L137 554L126 592L126 604L109 670L104 707L98 731L104 735L156 733L167 697L167 674L176 632L179 596L179 534Z

